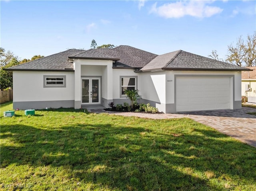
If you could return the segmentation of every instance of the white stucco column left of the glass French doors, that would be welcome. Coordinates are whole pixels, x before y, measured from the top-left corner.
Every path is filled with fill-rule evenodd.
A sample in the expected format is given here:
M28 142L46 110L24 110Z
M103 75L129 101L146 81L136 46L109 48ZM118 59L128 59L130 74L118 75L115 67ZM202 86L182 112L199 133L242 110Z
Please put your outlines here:
M75 109L81 108L81 64L79 60L74 60L75 69Z

